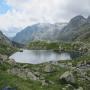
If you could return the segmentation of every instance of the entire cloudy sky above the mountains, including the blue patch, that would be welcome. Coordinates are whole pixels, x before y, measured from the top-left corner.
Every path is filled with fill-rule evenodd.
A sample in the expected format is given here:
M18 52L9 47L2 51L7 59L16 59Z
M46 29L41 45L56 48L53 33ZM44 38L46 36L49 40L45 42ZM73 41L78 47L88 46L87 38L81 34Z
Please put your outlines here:
M90 15L90 0L0 0L0 29L14 35L35 23L68 22Z

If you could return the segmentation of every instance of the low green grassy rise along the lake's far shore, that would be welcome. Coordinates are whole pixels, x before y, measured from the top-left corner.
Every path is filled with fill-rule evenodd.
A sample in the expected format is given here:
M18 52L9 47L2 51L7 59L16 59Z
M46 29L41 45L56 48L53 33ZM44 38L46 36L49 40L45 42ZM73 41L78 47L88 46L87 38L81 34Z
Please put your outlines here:
M73 51L78 50L83 44L80 42L46 42L46 41L36 41L31 42L27 47L28 49L36 50L64 50L64 51Z

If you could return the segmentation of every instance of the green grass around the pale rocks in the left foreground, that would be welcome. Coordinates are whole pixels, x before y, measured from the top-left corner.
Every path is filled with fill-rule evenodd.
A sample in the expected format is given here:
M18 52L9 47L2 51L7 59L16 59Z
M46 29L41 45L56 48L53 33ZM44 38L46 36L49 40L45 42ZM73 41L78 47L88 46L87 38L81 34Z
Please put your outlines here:
M25 64L17 64L20 68L23 67ZM17 67L18 67L17 66ZM18 68L19 68L18 67ZM39 68L44 68L43 65L27 65L26 68L30 68L31 70L35 70ZM31 81L31 80L23 80L17 76L14 76L12 74L8 74L6 71L9 68L13 68L13 66L10 66L9 64L5 63L2 66L0 66L0 89L5 87L5 86L10 86L10 87L16 87L17 90L61 90L63 85L60 85L59 83L59 76L64 73L66 70L65 69L59 69L53 72L53 73L45 73L40 71L42 74L45 75L45 80L51 80L54 81L55 84L49 84L48 86L42 86L41 82L39 81Z

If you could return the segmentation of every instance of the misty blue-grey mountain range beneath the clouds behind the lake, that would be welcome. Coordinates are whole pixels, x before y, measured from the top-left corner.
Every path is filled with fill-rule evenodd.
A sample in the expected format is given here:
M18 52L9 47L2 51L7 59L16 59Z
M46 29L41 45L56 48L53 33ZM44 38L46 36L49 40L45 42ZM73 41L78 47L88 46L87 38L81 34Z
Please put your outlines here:
M28 26L12 39L15 44L26 44L36 40L48 41L90 41L90 16L79 15L69 23L38 23ZM11 41L0 31L0 43L11 44ZM20 44L19 44L20 45ZM21 45L20 45L21 46Z

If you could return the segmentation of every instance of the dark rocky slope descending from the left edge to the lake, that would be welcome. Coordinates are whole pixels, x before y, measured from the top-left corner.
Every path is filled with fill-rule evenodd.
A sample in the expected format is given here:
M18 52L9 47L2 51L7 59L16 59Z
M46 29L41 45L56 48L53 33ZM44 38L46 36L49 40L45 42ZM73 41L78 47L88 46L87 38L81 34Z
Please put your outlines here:
M14 47L15 46L15 47ZM9 56L18 49L16 48L16 44L10 41L1 31L0 31L0 58L2 59L4 56Z

